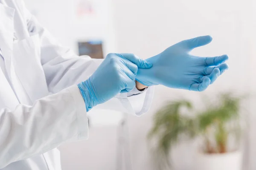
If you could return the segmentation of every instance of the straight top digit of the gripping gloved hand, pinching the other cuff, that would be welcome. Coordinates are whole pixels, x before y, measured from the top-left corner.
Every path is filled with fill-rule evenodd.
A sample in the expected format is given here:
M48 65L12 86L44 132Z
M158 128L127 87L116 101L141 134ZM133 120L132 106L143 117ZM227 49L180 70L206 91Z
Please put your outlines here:
M140 57L135 56L134 54L122 53L117 54L119 57L129 60L130 62L136 64L139 68L151 68L152 64Z

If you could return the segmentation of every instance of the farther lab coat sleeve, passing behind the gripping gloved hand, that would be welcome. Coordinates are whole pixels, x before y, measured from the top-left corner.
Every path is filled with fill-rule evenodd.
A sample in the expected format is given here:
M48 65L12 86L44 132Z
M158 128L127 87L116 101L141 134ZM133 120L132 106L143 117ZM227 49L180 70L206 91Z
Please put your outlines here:
M28 21L29 34L39 34L41 40L41 64L44 69L48 89L56 93L70 85L85 81L98 68L103 59L89 56L79 57L69 48L60 45L49 32L32 16ZM111 109L131 113L137 116L148 111L153 98L153 88L145 93L128 96L119 94L96 108Z

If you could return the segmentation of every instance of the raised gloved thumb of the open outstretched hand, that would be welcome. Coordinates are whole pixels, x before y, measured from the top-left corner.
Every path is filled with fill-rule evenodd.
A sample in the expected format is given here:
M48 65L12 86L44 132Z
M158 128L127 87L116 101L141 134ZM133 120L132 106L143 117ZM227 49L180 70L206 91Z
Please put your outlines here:
M188 50L192 50L197 47L201 47L203 45L207 45L212 41L212 37L209 35L201 36L201 37L195 37L189 40L184 40L182 43L184 43L185 47Z

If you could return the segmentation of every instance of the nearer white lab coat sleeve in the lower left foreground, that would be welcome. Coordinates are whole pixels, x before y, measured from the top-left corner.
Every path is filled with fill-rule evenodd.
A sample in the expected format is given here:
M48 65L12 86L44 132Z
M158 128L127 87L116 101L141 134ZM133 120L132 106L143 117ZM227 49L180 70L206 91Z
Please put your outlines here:
M42 154L63 142L87 139L88 121L84 99L73 85L57 94L0 110L0 169Z

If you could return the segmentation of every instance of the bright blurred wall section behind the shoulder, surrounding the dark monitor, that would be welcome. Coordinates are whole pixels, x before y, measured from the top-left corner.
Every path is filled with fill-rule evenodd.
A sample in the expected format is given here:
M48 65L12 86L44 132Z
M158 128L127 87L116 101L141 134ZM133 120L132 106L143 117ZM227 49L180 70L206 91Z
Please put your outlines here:
M115 51L112 6L109 0L93 0L93 17L76 17L79 0L24 0L27 8L64 46L78 52L77 42L103 40L104 53Z

